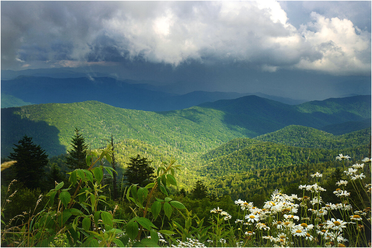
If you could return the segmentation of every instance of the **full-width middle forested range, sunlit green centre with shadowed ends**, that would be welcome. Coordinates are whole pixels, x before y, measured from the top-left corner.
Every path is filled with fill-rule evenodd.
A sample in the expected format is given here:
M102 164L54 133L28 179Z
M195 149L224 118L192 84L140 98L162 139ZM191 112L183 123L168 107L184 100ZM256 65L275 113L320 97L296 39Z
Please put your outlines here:
M23 135L35 138L49 154L69 148L74 128L80 128L92 147L102 146L111 133L178 153L214 149L238 137L257 137L288 125L323 130L353 120L371 127L371 96L331 98L288 105L254 95L206 102L183 110L151 112L110 106L97 101L38 104L1 109L1 155ZM359 130L357 126L355 130ZM329 132L333 133L333 132Z

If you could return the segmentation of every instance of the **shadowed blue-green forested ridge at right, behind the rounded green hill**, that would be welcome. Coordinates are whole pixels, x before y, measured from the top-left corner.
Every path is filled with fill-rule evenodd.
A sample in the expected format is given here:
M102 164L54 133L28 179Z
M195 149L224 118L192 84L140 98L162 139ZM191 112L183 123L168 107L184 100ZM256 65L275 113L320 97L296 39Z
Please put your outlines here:
M321 130L328 125L371 119L370 95L330 98L299 105L283 104L250 95L233 100L205 102L199 106L225 111L228 113L228 119L225 120L227 123L247 128L259 135L288 125Z

